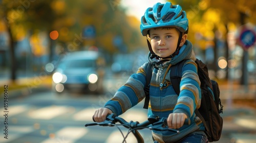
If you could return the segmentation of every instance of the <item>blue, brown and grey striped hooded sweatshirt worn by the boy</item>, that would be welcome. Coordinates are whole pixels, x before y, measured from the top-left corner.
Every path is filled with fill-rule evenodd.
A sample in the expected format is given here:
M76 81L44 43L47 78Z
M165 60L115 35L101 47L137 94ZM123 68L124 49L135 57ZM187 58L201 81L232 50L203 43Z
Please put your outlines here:
M184 59L186 59L186 62L181 70L182 78L178 96L170 82L170 72L172 72L170 66ZM179 134L172 131L153 130L153 137L159 142L175 142L189 133L203 129L202 121L194 112L201 104L200 80L195 60L193 45L186 40L177 56L158 65L153 70L148 115L155 114L159 117L168 117L170 113L185 113L191 121L190 125L184 125L179 129ZM120 115L145 98L145 65L146 63L139 67L136 74L131 75L129 80L118 89L114 97L105 103L105 108L110 109L116 115ZM160 87L161 83L165 86Z

